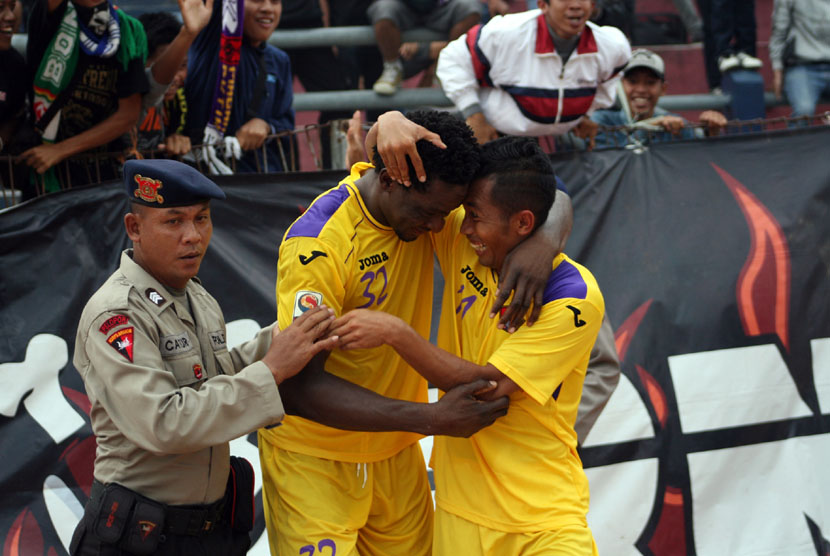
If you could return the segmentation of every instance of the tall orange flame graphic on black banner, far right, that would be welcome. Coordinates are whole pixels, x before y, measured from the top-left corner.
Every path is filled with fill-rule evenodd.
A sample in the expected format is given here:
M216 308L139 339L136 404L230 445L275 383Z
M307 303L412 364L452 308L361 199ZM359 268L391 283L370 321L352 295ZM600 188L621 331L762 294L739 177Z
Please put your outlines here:
M735 196L752 239L736 292L744 333L777 334L789 351L791 270L787 240L778 221L757 197L717 165L712 167Z

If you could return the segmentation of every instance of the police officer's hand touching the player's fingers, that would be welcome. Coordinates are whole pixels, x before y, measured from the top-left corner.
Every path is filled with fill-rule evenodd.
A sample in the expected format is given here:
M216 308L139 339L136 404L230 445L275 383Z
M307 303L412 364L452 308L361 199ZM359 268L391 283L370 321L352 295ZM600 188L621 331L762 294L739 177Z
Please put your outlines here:
M274 327L271 346L262 362L271 369L277 384L299 373L321 351L337 346L337 336L324 338L332 322L334 311L320 305L307 311L283 331Z

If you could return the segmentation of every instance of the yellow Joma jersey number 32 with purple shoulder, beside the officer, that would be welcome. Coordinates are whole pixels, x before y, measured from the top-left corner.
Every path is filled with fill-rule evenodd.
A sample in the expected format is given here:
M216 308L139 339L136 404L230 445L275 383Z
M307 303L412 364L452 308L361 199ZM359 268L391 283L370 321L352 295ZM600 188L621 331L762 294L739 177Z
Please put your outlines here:
M277 306L287 327L321 303L337 316L352 309L386 311L429 337L433 254L429 238L404 242L366 208L355 181L373 166L358 163L340 184L321 194L285 233L279 250ZM383 396L427 402L426 381L395 351L375 349L331 353L329 373ZM417 442L408 432L356 432L286 416L261 438L284 450L344 462L368 463L391 457Z

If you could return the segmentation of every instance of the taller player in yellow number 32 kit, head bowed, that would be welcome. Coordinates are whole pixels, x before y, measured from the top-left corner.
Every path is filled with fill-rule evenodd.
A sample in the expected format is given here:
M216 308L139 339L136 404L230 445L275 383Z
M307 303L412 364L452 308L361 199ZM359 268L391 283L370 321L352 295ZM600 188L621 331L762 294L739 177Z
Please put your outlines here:
M338 315L356 308L401 315L428 336L433 250L425 232L440 231L461 204L479 153L472 132L451 115L410 117L446 144L418 145L430 180L407 188L382 164L361 163L320 195L280 245L281 327L325 303ZM426 381L389 347L334 352L284 381L290 416L259 433L272 554L431 553L433 502L420 435L469 436L507 407L506 397L473 397L486 380L469 382L424 403Z

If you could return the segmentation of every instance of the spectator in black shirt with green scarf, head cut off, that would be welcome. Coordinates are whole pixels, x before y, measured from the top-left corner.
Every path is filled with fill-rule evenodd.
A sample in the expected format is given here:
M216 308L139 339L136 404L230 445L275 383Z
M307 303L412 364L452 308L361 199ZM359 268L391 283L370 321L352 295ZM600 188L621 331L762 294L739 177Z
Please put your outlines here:
M26 59L34 72L34 125L42 144L22 161L46 191L116 178L120 162L73 155L124 150L121 138L136 123L147 37L136 19L108 0L40 0L29 17ZM60 165L59 165L60 164ZM59 166L58 166L59 165Z

